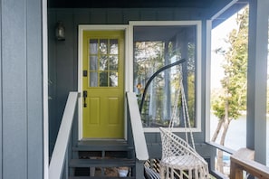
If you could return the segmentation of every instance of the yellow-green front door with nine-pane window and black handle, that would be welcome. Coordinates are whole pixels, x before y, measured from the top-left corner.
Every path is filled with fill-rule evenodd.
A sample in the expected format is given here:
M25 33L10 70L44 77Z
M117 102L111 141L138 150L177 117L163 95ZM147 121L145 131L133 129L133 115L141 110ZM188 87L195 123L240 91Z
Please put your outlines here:
M124 32L84 31L82 137L124 137Z

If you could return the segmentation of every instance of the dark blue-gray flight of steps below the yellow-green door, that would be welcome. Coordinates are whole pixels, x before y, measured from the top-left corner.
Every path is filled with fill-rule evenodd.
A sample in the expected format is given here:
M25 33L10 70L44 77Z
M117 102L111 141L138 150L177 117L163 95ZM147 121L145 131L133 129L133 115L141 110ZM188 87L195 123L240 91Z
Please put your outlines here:
M126 142L83 141L72 147L72 153L77 158L69 163L71 179L135 178L131 171L135 169L136 160L133 148ZM130 171L128 177L119 176L119 167Z

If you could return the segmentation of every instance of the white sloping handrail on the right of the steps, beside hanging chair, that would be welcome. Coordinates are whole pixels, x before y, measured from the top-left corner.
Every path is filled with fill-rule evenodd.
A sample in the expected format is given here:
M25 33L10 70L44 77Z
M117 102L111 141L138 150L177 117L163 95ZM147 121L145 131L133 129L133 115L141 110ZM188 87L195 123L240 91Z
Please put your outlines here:
M134 92L127 92L127 100L136 157L139 161L146 161L149 159L149 152L142 127L136 94Z

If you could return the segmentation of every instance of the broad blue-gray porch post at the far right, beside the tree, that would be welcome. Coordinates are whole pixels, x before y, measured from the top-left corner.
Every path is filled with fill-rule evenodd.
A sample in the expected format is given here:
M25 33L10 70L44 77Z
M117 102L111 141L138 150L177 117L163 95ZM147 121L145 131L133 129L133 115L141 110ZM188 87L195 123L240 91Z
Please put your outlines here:
M267 0L250 0L246 146L255 150L255 161L264 165L266 164L267 11Z

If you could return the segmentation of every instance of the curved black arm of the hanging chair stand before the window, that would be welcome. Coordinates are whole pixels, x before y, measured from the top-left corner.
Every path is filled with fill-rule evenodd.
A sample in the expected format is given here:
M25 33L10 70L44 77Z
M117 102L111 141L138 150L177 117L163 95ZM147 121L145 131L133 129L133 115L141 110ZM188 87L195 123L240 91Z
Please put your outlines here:
M170 63L164 67L161 67L158 71L156 71L150 78L149 80L147 81L146 83L146 86L145 86L145 89L144 89L144 92L143 92L143 95L142 95L142 99L141 99L141 102L140 102L140 106L139 106L139 112L141 114L141 110L142 110L142 107L143 107L143 104L144 104L144 100L145 100L145 97L146 97L146 94L147 94L147 89L149 88L149 84L150 82L161 72L161 71L165 71L173 66L176 66L180 63L183 63L185 62L186 60L185 59L181 59L179 61L176 61L176 62L173 62L173 63Z

